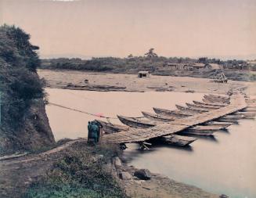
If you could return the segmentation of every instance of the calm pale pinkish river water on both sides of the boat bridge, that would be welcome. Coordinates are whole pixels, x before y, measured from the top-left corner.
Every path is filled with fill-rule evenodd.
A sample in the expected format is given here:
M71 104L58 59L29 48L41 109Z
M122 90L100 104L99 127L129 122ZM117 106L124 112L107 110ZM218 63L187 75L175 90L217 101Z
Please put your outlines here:
M178 92L87 92L48 88L49 101L70 108L115 117L141 116L152 107L175 109L175 104L200 100L200 93ZM95 119L83 113L47 106L46 112L56 139L87 136L87 123ZM118 120L111 120L119 123ZM156 146L139 152L128 145L128 164L149 168L179 182L197 185L229 197L256 197L256 121L242 120L229 131L215 133L214 139L198 139L189 149Z

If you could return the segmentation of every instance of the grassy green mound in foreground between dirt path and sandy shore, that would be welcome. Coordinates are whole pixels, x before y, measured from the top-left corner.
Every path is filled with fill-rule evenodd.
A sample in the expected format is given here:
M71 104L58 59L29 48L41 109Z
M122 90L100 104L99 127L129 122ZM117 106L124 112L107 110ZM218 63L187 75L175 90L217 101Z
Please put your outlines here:
M104 165L119 151L117 146L92 146L78 143L59 159L52 170L33 183L23 198L48 197L106 197L125 198ZM97 156L102 155L97 159Z

